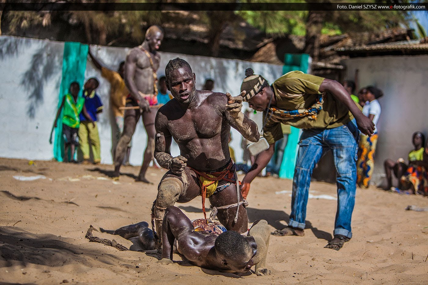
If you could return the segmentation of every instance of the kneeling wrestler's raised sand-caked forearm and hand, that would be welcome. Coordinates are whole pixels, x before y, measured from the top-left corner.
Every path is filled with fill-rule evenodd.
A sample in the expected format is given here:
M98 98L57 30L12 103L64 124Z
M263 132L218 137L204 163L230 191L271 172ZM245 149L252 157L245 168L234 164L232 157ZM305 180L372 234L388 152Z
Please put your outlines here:
M229 93L226 93L227 104L225 115L229 124L239 131L244 138L250 142L258 142L260 139L259 128L257 127L256 122L250 120L244 113L241 112L242 109L242 96L245 95L245 91L241 92L239 96L232 97Z

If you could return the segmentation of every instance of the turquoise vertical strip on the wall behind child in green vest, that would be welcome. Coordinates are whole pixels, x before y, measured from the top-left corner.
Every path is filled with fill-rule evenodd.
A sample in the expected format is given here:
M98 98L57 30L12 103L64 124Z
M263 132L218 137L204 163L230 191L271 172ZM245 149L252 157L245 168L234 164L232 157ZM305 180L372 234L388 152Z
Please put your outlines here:
M59 88L58 108L61 105L62 98L68 93L71 82L76 81L79 83L80 89L83 89L88 48L88 45L83 45L80 42L65 42L64 54L62 56L62 79L61 87ZM53 157L58 161L62 161L62 158L64 157L62 111L58 117L58 121L56 122Z

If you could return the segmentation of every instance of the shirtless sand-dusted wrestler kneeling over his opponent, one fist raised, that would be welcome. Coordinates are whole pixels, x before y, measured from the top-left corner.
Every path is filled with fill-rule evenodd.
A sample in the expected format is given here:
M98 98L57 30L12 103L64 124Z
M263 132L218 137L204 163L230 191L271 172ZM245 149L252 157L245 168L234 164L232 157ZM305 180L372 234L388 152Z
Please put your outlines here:
M167 207L197 196L202 196L202 205L209 199L214 207L211 214L217 214L227 230L247 232L247 211L236 187L235 164L228 147L231 126L247 140L260 138L256 123L241 112L241 95L245 93L230 97L229 93L196 90L195 74L180 58L169 61L165 76L174 98L160 107L155 120L155 158L169 169L153 205L157 232L161 232ZM169 151L172 139L180 148L177 157ZM205 215L205 207L202 209Z

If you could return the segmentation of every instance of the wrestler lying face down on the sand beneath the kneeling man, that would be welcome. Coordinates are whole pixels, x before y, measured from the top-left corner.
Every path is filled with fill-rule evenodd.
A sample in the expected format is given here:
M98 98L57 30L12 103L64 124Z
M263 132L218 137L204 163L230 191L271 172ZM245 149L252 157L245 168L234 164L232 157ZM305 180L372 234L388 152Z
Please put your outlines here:
M153 231L146 222L129 225L114 231L123 238L138 236L145 249L155 249ZM270 231L265 220L257 220L248 236L226 229L217 222L205 219L193 223L177 207L166 208L162 231L162 259L160 264L172 264L174 242L178 252L191 263L213 270L232 270L246 273L254 265L258 276L270 274L266 269Z

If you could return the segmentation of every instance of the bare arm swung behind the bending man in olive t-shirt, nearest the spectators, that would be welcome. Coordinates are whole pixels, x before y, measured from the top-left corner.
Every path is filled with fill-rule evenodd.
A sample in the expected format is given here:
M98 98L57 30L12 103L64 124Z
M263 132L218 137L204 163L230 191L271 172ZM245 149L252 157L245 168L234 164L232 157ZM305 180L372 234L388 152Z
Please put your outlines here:
M348 107L351 111L352 115L354 115L355 120L357 121L358 128L363 134L371 136L375 131L375 124L373 124L372 120L368 117L364 116L364 114L360 111L357 105L352 101L351 96L349 96L348 92L346 92L345 88L343 88L342 84L337 82L336 80L324 79L319 87L319 92L329 91L333 96L342 102Z

